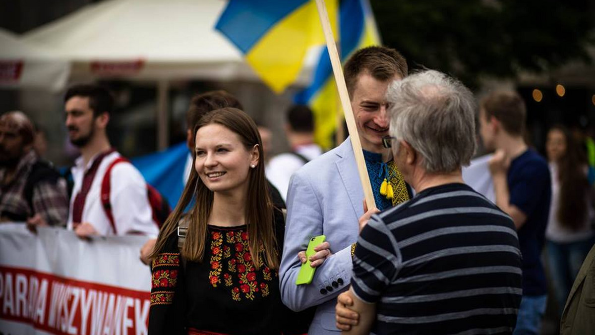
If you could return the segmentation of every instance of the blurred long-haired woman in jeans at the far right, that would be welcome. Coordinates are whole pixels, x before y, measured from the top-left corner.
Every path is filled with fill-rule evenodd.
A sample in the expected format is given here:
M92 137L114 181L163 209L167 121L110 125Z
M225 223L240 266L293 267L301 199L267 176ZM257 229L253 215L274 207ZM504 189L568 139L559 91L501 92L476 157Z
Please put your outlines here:
M593 198L587 180L587 162L566 127L550 128L546 152L552 173L546 248L561 313L578 270L595 242Z

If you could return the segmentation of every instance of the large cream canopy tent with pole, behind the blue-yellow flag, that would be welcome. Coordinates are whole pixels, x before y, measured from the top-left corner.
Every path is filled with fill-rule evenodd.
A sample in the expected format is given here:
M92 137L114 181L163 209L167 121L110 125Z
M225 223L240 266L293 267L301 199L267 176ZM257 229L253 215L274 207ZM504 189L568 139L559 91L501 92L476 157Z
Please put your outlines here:
M71 62L71 79L158 82L158 148L167 146L168 82L259 80L242 54L215 31L227 1L107 0L26 33ZM309 52L298 84L306 84L319 48Z

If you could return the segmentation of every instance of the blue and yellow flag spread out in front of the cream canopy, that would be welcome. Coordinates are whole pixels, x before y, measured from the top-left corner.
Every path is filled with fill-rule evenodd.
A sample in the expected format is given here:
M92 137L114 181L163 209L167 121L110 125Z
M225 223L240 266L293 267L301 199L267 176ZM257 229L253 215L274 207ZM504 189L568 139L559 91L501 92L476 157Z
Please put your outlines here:
M327 0L336 32L337 0ZM324 45L314 0L230 0L217 24L274 92L295 82L309 48Z

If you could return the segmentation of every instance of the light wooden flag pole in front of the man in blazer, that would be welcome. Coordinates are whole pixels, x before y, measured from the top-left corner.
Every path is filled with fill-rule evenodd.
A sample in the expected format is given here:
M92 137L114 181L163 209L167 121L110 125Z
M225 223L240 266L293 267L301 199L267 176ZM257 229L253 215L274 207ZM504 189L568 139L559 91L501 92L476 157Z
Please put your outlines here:
M327 41L328 56L331 58L331 65L333 65L335 83L337 83L337 90L339 90L339 98L341 99L341 105L343 106L343 115L345 115L347 130L349 130L353 155L355 155L355 162L358 165L359 180L362 182L362 188L364 189L364 199L368 205L368 209L376 208L374 194L372 193L372 186L370 185L368 176L368 169L366 168L364 159L364 152L362 151L362 144L359 142L358 127L355 125L355 118L353 117L351 102L349 101L349 93L347 93L345 77L343 77L343 68L341 67L339 52L337 52L333 30L331 29L331 24L328 20L327 8L324 4L324 0L316 0L316 5L318 7L318 15L320 16L324 38Z

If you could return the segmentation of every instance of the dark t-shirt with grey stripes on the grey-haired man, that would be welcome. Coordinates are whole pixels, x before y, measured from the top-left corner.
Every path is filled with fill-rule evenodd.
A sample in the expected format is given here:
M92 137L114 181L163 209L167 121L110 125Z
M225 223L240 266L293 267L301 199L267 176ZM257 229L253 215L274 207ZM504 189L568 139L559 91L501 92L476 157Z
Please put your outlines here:
M522 295L515 227L465 184L425 189L364 227L351 283L377 303L374 334L510 334Z

